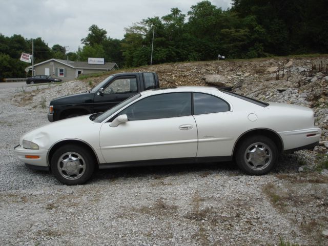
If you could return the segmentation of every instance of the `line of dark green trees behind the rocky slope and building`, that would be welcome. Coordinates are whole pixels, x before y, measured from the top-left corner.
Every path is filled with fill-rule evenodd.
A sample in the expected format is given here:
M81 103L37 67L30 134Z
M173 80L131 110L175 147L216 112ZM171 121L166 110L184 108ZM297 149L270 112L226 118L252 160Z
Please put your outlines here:
M96 25L81 39L77 52L65 47L49 48L34 39L35 63L49 58L86 61L104 57L119 67L177 61L255 58L272 55L327 53L328 2L326 0L233 0L222 10L210 1L191 6L187 14L172 8L125 28L122 39L111 38ZM153 40L154 35L154 40ZM21 35L0 35L0 77L24 76L26 63L20 53L31 53L31 40Z

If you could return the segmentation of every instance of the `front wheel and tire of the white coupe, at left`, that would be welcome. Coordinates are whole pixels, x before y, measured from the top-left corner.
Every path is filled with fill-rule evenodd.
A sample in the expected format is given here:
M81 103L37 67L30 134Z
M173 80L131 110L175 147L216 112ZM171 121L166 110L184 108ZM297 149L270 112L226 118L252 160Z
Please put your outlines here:
M78 145L64 145L55 151L50 162L55 177L68 186L82 185L94 171L90 151Z

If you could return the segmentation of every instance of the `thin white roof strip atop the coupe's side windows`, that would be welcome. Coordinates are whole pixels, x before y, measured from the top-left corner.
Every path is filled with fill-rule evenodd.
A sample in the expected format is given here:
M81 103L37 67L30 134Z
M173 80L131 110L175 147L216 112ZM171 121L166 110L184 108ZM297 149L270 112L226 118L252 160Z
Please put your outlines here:
M168 88L159 88L153 90L142 91L140 94L144 95L156 95L163 93L173 93L173 92L210 92L210 91L218 91L216 87L208 87L208 86L178 86L178 87L168 87Z

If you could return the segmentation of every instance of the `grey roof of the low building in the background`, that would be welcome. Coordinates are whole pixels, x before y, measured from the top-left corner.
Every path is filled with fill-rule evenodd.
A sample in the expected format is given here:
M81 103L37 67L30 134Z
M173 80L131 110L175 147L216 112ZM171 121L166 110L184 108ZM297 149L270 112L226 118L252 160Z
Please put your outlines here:
M62 59L54 59L54 58L42 61L41 63L34 64L34 67L48 63L49 61L57 61L57 63L61 63L63 65L69 66L74 69L111 70L115 66L118 68L116 63L105 63L104 65L98 65L98 64L88 64L88 61L73 61L73 60L62 60ZM32 68L32 66L29 66L28 68Z

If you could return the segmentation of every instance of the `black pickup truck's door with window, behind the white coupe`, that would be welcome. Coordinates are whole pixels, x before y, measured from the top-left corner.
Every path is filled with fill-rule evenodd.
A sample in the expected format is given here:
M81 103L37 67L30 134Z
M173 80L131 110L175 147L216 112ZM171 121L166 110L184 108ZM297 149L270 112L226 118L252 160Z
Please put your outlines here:
M104 112L138 92L137 76L120 76L95 93L94 112Z

